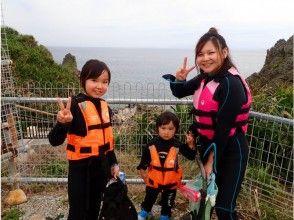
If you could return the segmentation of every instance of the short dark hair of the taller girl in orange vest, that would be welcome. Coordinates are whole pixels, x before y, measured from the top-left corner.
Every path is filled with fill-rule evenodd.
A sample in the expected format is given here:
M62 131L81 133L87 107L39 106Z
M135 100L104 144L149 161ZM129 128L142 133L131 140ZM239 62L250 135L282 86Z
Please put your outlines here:
M84 64L80 74L80 82L82 88L85 89L85 82L87 79L96 79L102 74L104 70L107 71L110 82L111 73L108 66L104 62L99 60L88 60Z

